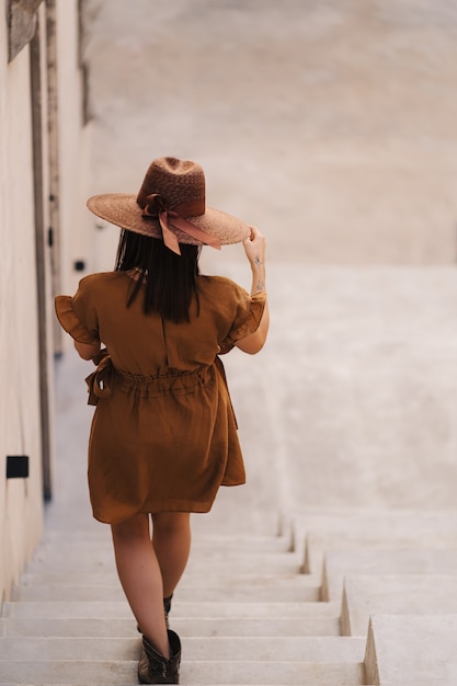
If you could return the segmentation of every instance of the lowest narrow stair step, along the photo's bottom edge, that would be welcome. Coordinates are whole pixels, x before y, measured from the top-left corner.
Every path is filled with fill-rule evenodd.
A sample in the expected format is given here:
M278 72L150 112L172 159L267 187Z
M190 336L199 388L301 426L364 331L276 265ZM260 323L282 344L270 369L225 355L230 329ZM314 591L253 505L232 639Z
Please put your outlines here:
M39 668L38 668L39 667ZM34 684L138 684L137 661L3 661L0 663L2 683ZM345 686L364 681L361 663L309 663L309 662L242 662L242 661L191 661L183 662L180 681L198 686L218 684L245 684L247 686L277 684L304 686Z

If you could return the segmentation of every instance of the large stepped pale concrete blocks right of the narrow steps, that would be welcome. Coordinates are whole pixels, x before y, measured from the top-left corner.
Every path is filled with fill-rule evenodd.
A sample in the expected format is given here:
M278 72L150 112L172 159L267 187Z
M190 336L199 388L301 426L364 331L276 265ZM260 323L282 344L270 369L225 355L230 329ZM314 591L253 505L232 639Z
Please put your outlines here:
M455 686L457 513L328 510L296 522L304 570L322 573L322 601L342 598L342 634L367 636L367 683Z

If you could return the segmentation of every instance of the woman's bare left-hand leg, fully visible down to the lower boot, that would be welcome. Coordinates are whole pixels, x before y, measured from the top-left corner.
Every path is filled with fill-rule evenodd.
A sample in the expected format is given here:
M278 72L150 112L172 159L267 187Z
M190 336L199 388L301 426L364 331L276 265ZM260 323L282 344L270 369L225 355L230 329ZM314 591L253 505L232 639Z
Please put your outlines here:
M117 573L141 632L165 659L170 645L163 615L162 574L150 542L149 515L111 525Z

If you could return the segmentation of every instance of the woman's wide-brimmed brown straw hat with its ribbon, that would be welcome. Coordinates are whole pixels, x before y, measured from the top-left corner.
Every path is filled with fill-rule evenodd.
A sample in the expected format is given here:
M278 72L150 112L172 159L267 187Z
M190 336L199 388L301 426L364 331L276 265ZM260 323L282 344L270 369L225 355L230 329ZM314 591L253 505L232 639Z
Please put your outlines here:
M88 207L123 229L162 239L176 253L179 243L220 248L251 233L241 219L206 206L205 174L197 162L173 157L149 165L138 194L94 195Z

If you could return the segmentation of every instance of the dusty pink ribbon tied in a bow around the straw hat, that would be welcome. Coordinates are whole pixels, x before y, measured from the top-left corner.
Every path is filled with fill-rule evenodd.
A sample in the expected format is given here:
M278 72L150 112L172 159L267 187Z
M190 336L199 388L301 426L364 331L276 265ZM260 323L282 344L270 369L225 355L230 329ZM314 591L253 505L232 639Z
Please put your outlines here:
M175 205L173 209L167 207L167 201L159 193L151 193L146 198L146 205L142 208L144 217L153 217L159 219L160 228L162 229L163 242L178 255L181 254L180 243L176 236L170 229L180 229L187 236L192 236L196 240L220 250L220 238L207 233L199 227L185 219L187 217L196 217L203 215L205 211L205 201L191 201L188 203L181 203Z

